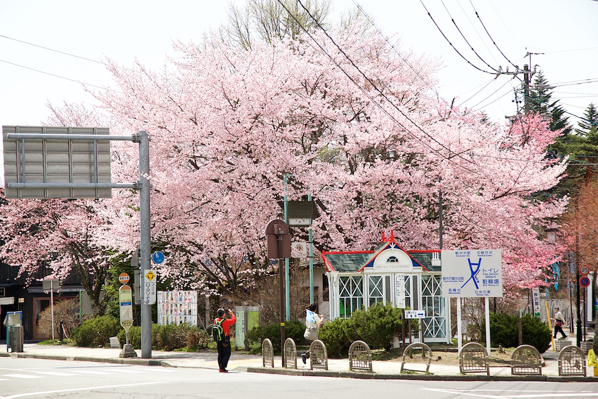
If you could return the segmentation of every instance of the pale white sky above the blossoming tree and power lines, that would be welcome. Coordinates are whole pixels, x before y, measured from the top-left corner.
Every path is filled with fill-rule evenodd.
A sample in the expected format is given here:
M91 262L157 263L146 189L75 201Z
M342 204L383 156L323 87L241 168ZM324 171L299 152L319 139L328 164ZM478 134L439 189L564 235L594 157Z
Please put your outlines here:
M93 106L93 98L78 81L114 87L100 63L30 44L97 61L106 56L121 65L137 58L160 68L166 54L175 55L172 40L201 42L203 33L224 21L227 4L213 0L0 0L0 124L37 126L49 115L48 101L58 106L63 102ZM520 81L506 75L493 80L495 76L469 65L443 38L426 8L454 47L478 68L491 70L471 51L451 18L493 68L510 66L512 71L506 58L523 68L529 62L527 51L544 53L532 55L532 69L538 65L555 86L568 84L553 89L553 100L561 99L571 114L581 116L590 102L598 104L597 0L362 0L361 4L385 35L401 38L403 48L444 63L438 73L440 84L434 87L444 99L450 102L457 97L457 105L486 111L493 121L502 122L505 115L515 114L513 92ZM353 0L332 0L332 6L334 18L355 7ZM492 44L474 7L506 58ZM568 115L569 120L576 123L573 115Z

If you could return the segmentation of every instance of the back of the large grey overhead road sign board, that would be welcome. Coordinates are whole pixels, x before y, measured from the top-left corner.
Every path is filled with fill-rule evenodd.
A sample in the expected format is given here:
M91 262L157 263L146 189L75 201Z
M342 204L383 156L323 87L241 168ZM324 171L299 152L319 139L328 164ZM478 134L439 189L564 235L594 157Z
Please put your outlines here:
M2 126L7 198L109 198L110 188L10 188L8 183L110 183L110 141L8 138L10 133L109 135L107 127Z

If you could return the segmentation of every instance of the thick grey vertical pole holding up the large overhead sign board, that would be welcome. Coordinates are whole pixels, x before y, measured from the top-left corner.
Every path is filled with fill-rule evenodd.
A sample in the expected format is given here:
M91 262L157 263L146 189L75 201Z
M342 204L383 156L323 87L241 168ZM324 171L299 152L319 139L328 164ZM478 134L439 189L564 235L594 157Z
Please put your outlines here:
M151 252L151 226L149 220L149 190L150 184L147 179L149 176L149 137L145 130L139 132L139 213L141 216L141 255L139 264L141 265L141 278L150 269L149 252ZM151 305L141 301L141 357L151 359Z

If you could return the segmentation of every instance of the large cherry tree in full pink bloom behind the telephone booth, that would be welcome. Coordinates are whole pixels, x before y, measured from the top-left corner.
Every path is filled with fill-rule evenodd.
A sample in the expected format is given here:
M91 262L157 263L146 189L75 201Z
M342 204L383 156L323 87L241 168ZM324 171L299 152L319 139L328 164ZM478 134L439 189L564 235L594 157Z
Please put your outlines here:
M429 86L437 63L362 25L330 33L249 49L179 42L161 71L108 60L121 93L94 95L112 131L151 135L161 275L206 294L245 290L271 270L264 227L285 194L318 199L319 250L368 249L391 229L405 248L438 248L442 190L445 248L501 248L508 285L542 284L557 252L534 227L565 200L528 198L563 174L565 161L545 159L559 132L533 115L501 126L447 108ZM54 109L61 124L82 112ZM136 148L112 151L113 180L130 181ZM96 242L135 248L136 209L136 193L115 190L94 209L106 220Z

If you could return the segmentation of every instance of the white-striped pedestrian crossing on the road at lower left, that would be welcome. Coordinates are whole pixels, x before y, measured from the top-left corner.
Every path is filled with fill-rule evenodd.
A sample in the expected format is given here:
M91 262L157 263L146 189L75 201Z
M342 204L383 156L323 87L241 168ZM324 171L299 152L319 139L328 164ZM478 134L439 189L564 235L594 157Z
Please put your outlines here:
M3 372L4 371L4 372ZM126 366L126 367L90 367L90 368L72 368L68 372L65 371L50 371L45 369L28 369L22 368L19 370L8 369L0 370L0 381L10 381L19 379L39 379L47 377L82 377L82 376L100 376L113 375L120 373L127 374L144 374L144 373L176 373L176 368L158 367L158 366Z

